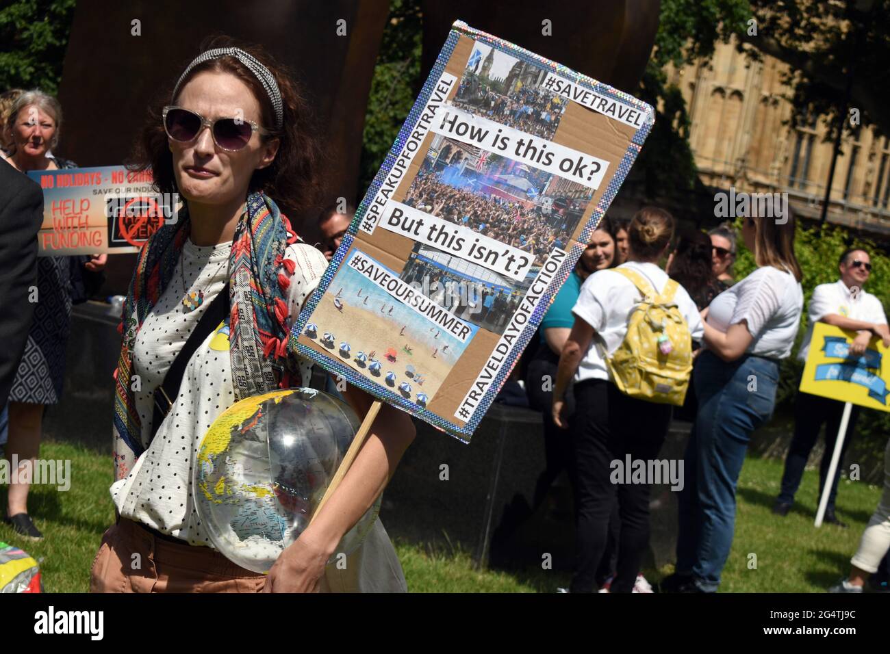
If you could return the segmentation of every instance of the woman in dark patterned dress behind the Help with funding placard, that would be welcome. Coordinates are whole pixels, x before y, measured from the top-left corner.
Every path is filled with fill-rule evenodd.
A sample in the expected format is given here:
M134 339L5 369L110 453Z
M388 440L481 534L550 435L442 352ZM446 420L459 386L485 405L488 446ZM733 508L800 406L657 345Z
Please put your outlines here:
M61 134L61 105L53 96L41 91L21 93L3 127L12 144L6 161L22 173L77 167L50 154ZM71 305L86 300L85 283L93 282L98 290L106 259L106 254L37 259L37 286L31 299L36 303L34 320L9 393L9 442L4 455L19 462L6 498L4 521L29 540L43 538L28 514L28 490L40 453L44 408L61 400Z

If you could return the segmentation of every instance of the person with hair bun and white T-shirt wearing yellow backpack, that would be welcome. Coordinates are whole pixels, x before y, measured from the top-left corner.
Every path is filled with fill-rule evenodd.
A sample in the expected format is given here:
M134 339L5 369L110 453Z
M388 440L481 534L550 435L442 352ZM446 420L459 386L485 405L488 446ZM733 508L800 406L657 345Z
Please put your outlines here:
M597 270L581 287L572 313L575 322L562 347L553 395L553 420L569 430L575 461L577 561L570 593L595 590L596 570L608 541L610 513L618 502L621 530L611 593L631 593L649 544L647 483L613 483L612 462L626 456L643 461L658 456L667 437L671 407L632 398L611 380L606 357L627 335L627 324L643 295L618 272L632 270L660 294L668 283L658 266L674 234L674 219L647 206L627 229L627 262ZM692 339L702 335L701 317L683 287L674 296ZM574 380L575 411L566 416L565 392Z

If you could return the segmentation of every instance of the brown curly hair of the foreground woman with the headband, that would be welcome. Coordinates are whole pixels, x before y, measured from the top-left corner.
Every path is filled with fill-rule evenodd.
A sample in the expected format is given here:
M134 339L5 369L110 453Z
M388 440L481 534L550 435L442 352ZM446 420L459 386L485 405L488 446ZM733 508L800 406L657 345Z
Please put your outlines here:
M259 45L239 43L230 36L211 36L201 44L200 52L224 47L238 47L244 50L260 61L275 77L283 105L284 119L281 129L273 128L275 112L263 85L250 69L235 57L226 56L198 64L190 70L188 77L182 80L180 91L191 78L207 70L231 73L244 82L260 103L263 127L270 131L270 134L261 138L265 141L272 138L280 140L275 160L271 166L254 172L248 190L251 192L263 190L290 213L299 214L317 208L321 166L324 165L324 159L312 117L312 108L302 85L295 81L285 66L275 61L271 54ZM186 62L182 69L189 63L190 61ZM176 99L171 100L175 82L174 79L164 93L150 105L142 133L134 146L133 157L127 162L130 170L151 169L155 188L159 192L166 193L176 190L176 179L162 115L166 105L175 104Z

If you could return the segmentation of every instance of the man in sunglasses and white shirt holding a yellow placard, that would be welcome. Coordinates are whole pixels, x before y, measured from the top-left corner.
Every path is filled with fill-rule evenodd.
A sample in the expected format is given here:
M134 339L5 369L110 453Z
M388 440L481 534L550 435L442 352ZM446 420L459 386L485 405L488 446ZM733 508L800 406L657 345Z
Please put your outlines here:
M813 297L810 299L808 307L809 327L797 355L801 361L806 360L807 353L810 351L813 325L816 322L824 322L841 329L855 330L857 335L850 346L850 351L854 355L862 354L874 335L881 336L884 343L890 345L890 329L887 328L884 307L877 297L863 290L871 274L869 254L859 249L847 250L841 255L838 268L840 279L833 284L821 284L813 289ZM819 438L822 424L825 424L825 453L822 455L819 478L821 496L821 489L825 486L825 477L828 474L831 454L834 451L843 412L844 403L841 401L829 400L805 392L797 393L794 438L791 440L791 447L785 458L781 492L773 506L773 513L786 515L791 505L794 504L794 494L804 475L806 460L810 456L816 439ZM859 408L854 406L846 428L841 452L842 462L846 448L853 436L858 416ZM837 480L840 479L840 473L840 466L838 466L837 475L831 482L831 493L824 521L846 527L843 522L837 520L835 515Z

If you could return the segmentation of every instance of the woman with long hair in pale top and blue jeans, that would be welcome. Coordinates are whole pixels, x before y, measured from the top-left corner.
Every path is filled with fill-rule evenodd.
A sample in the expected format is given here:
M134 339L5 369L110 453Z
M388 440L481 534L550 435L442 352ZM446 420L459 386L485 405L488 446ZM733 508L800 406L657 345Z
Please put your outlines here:
M773 415L779 362L791 353L804 292L795 220L745 218L757 269L714 298L693 370L698 413L686 448L676 573L668 591L716 593L732 547L735 490L751 433Z

